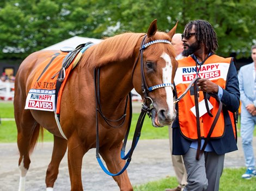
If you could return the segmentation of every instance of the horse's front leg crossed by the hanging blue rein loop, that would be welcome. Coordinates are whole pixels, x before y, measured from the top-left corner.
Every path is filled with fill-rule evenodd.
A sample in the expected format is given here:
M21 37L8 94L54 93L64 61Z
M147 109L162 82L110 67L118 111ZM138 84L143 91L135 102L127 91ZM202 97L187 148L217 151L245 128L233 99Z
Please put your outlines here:
M101 147L100 148L100 155L102 156L103 160L105 161L108 170L112 174L119 173L121 169L123 169L125 165L125 161L120 157L120 151L122 147L122 142L117 144L115 147ZM119 176L113 176L115 182L117 182L121 191L132 191L132 185L130 179L128 177L127 171L125 170L123 174Z

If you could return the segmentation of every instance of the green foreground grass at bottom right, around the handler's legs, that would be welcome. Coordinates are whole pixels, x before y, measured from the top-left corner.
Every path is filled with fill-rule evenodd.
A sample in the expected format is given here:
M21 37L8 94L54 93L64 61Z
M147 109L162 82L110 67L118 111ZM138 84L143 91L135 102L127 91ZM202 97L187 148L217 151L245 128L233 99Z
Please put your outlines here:
M255 190L256 178L243 180L241 175L245 173L246 168L225 168L221 176L220 191L240 191ZM166 177L165 179L148 182L135 186L135 191L162 191L165 188L175 188L178 185L175 177Z

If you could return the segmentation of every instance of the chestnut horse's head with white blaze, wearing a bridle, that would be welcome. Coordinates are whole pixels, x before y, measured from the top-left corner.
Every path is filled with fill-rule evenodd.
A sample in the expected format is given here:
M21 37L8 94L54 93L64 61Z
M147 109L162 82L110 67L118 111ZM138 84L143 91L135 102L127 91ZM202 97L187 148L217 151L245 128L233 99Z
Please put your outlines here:
M140 45L141 52L138 53L141 66L137 64L133 75L135 90L144 98L144 104L151 107L155 127L170 125L176 117L173 85L178 62L170 43L176 25L164 33L157 31L156 20L150 24L147 36Z

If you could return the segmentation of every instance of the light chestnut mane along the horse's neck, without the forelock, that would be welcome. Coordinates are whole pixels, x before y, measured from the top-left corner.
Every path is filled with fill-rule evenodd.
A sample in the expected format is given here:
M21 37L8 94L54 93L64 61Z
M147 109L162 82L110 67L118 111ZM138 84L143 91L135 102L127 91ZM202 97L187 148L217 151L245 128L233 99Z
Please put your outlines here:
M109 37L86 50L81 62L86 63L87 67L93 68L113 61L123 61L133 55L135 46L143 35L145 34L123 33Z

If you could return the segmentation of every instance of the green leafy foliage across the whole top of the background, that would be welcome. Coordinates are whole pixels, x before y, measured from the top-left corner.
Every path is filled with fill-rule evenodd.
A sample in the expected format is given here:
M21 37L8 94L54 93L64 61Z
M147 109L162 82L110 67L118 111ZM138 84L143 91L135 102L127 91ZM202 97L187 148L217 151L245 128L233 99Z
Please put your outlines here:
M0 2L0 59L23 59L28 54L72 36L102 38L125 31L146 32L157 18L178 33L191 20L207 20L219 42L217 53L247 57L255 43L256 0L2 0Z

